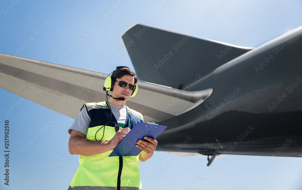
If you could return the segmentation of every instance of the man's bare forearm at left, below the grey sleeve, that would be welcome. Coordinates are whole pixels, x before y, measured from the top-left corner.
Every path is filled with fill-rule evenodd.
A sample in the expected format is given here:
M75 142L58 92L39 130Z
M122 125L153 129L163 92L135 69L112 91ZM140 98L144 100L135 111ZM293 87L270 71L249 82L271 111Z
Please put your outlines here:
M72 137L69 140L68 148L70 154L83 156L91 156L113 150L109 141L92 141L81 136Z

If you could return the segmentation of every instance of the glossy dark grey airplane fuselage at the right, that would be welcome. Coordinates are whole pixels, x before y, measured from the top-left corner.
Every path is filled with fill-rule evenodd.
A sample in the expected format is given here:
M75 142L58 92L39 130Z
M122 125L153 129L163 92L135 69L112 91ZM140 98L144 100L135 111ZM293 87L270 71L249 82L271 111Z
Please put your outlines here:
M223 64L183 89L214 92L159 123L169 128L157 138L158 150L301 157L301 77L302 30Z

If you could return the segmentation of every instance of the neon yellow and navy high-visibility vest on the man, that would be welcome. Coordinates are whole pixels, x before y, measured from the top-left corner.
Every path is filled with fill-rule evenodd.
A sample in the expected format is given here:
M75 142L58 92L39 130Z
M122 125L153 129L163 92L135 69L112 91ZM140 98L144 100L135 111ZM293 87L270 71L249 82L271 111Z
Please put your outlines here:
M86 139L92 141L112 139L116 133L114 123L117 123L117 120L113 114L111 117L107 103L104 101L84 104L83 108L87 109L91 119ZM125 127L132 129L137 122L143 122L143 117L139 112L128 107L126 109ZM104 126L110 117L110 121L114 123L108 123ZM101 128L102 126L104 127ZM111 152L112 150L92 156L80 155L79 168L68 190L115 190L119 184L120 189L142 189L138 163L140 155L108 157Z

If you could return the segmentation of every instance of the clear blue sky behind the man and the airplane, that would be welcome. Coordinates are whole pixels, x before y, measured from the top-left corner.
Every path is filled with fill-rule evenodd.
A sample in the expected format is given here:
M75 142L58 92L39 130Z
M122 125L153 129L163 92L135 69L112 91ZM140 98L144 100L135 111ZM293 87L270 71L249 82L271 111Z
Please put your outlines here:
M100 73L120 65L134 69L127 52L116 52L123 47L121 36L136 23L246 47L302 26L300 0L2 0L0 10L0 53ZM248 33L236 38L246 27ZM72 53L61 61L69 48ZM78 155L68 153L67 130L74 119L26 99L6 114L20 96L0 89L0 97L0 123L9 120L10 126L9 186L1 156L0 189L67 189L79 165ZM0 131L4 151L4 127ZM206 164L203 156L156 151L140 163L143 189L302 189L301 158L226 155Z

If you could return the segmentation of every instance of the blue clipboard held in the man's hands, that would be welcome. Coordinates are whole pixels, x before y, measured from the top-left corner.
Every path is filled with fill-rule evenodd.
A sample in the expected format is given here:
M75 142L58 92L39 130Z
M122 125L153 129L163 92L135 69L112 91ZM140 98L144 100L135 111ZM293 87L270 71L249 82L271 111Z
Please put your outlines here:
M167 126L153 123L137 122L137 124L128 132L124 139L114 148L111 156L137 156L142 151L137 148L137 141L144 140L144 136L155 139Z

